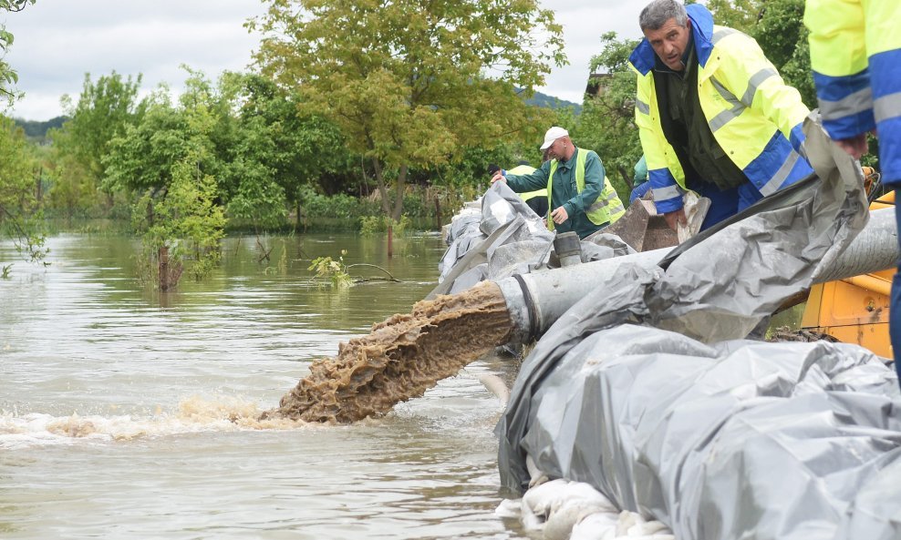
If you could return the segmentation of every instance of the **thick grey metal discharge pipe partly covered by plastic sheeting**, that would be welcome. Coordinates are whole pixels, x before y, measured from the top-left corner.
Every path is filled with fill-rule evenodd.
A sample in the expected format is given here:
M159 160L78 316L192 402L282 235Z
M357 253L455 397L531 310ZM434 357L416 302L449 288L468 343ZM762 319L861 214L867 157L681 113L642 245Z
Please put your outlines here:
M565 311L594 290L596 283L615 275L621 265L652 269L670 250L644 251L497 281L513 321L511 342L525 343L540 337ZM874 210L865 228L815 282L888 270L896 265L899 256L895 209Z

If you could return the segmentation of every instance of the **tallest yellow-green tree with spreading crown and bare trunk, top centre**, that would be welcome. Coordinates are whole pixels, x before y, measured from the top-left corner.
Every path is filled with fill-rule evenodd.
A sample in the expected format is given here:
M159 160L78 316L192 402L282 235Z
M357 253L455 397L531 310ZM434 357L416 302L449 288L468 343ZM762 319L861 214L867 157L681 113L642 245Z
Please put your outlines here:
M546 127L545 111L514 89L532 93L549 63L565 60L561 27L535 0L264 4L250 23L264 33L264 74L342 127L370 161L391 219L403 211L409 168L453 160L465 146L533 141Z

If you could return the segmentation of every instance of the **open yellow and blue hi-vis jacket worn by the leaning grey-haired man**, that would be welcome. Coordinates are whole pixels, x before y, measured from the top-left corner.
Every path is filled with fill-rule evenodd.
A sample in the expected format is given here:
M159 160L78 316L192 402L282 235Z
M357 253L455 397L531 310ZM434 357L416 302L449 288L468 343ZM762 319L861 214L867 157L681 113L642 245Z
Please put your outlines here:
M700 107L720 148L763 195L813 172L801 156L801 123L810 111L798 91L785 85L751 37L714 26L703 5L688 5L686 10L699 63ZM685 172L663 132L655 53L647 39L629 61L638 73L635 117L654 202L658 212L678 210Z

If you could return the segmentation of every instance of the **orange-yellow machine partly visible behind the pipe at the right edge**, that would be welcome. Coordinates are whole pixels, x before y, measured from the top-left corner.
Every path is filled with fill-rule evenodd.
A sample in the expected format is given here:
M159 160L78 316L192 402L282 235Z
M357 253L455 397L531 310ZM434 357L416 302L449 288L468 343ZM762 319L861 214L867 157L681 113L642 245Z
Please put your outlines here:
M895 192L875 199L870 209L895 206ZM857 343L879 356L892 358L888 337L888 306L896 270L854 276L814 285L801 320L805 330Z

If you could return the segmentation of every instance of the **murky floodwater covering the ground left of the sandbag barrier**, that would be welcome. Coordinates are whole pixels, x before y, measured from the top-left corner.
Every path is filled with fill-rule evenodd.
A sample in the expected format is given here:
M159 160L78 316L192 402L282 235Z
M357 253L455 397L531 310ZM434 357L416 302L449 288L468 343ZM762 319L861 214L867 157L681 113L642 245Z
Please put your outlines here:
M47 268L0 243L0 538L523 538L494 515L508 384L489 357L349 425L259 423L311 362L435 285L437 236L229 239L210 280L144 290L133 240L50 239ZM318 256L402 283L320 289ZM355 274L379 277L360 267Z

